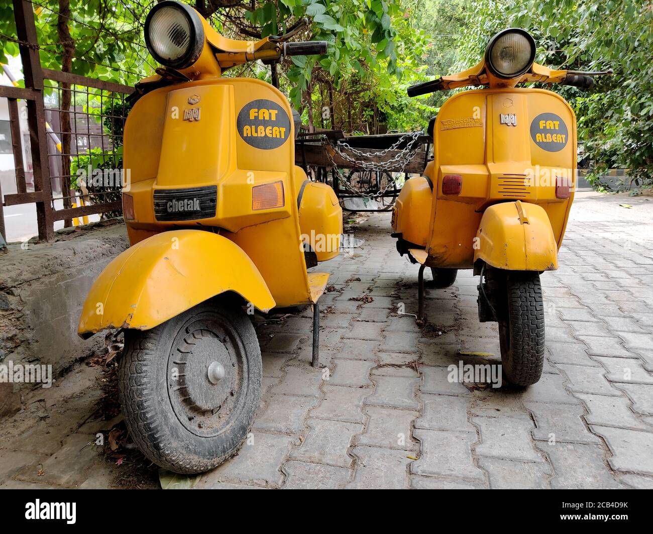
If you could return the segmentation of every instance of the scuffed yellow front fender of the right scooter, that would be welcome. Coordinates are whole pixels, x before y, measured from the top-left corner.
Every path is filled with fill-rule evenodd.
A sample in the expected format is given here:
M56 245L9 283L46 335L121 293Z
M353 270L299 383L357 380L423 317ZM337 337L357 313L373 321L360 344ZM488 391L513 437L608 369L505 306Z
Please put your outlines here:
M549 216L537 204L502 202L485 210L474 243L474 262L511 271L558 268L558 244Z

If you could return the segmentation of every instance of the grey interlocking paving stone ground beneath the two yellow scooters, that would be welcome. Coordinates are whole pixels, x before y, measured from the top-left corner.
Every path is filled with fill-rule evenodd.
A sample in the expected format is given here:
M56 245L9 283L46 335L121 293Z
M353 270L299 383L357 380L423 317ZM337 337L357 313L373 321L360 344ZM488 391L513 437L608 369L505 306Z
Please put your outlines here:
M452 364L500 362L477 278L427 289L421 330L417 268L396 253L389 213L364 218L362 249L316 268L332 285L323 368L310 366L309 309L260 323L252 435L196 488L653 488L653 200L577 195L560 269L542 276L547 361L526 390L447 379ZM88 467L97 453L78 452L97 431L85 419L52 450L0 445L0 487L108 486L106 467ZM46 476L16 471L27 460L50 462Z

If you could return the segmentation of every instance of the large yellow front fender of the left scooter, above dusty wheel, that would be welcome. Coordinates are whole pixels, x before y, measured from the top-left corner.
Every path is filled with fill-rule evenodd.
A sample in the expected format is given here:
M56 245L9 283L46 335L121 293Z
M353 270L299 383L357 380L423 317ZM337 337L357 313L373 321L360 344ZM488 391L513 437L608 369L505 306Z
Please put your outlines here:
M261 310L274 298L236 243L204 230L173 230L136 243L104 268L89 291L77 333L149 330L225 291Z

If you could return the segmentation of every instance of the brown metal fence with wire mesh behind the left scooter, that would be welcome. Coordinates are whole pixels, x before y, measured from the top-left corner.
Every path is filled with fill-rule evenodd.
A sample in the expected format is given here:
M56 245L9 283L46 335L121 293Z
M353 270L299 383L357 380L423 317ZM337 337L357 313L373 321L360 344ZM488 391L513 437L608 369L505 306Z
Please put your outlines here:
M12 1L25 87L0 86L0 97L8 101L16 173L16 193L3 199L0 190L0 234L6 240L3 206L33 203L39 240L51 241L55 221L71 226L75 218L121 212L119 185L96 187L88 171L121 168L125 97L133 88L43 69L33 4ZM29 147L21 135L20 101L25 102Z

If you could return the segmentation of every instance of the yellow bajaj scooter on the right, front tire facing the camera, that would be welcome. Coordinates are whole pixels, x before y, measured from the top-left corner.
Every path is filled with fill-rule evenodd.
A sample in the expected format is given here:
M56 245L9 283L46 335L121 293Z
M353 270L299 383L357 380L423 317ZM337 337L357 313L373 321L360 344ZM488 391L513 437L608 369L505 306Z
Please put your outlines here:
M503 371L518 386L536 383L544 361L539 275L558 268L576 173L576 119L565 100L523 82L589 88L608 72L552 71L534 63L535 42L522 29L494 36L468 71L408 89L415 97L466 86L430 122L434 160L406 181L392 214L400 254L420 264L435 287L458 269L481 275L479 320L497 321Z

